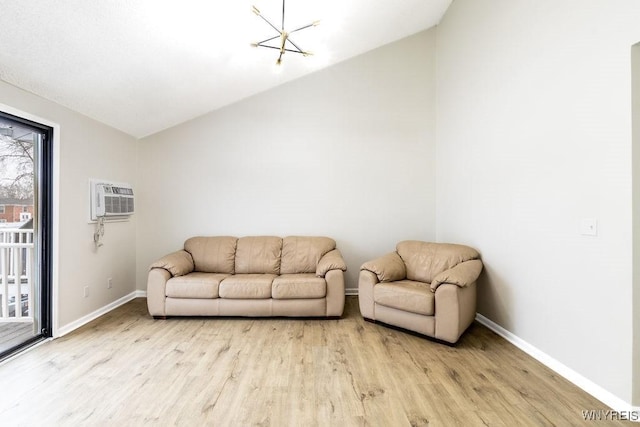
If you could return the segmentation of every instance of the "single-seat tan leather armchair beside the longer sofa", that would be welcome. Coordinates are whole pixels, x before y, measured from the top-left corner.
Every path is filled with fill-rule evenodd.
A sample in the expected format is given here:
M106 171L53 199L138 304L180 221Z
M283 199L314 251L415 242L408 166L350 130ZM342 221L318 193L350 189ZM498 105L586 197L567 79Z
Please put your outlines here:
M476 315L482 261L463 245L407 240L360 268L365 319L455 343Z

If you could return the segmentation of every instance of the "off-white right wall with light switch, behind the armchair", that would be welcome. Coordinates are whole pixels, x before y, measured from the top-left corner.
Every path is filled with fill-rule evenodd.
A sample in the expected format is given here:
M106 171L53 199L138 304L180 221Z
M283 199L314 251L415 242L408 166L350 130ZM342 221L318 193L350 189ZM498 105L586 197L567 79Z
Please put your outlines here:
M437 38L438 239L482 251L480 313L628 403L638 22L631 0L456 0Z

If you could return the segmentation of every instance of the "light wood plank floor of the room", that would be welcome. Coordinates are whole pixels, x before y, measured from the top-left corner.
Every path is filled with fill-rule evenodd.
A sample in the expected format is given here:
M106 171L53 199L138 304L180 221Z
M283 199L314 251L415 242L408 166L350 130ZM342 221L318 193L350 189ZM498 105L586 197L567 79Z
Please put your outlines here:
M607 409L485 327L153 320L136 299L0 366L1 425L576 426ZM633 425L632 423L626 423Z

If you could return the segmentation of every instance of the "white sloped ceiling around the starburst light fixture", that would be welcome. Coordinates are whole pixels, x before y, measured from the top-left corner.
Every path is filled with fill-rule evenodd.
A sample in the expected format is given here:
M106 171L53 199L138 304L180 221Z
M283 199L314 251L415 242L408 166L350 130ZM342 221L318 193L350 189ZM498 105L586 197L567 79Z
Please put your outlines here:
M0 0L0 79L143 137L436 25L452 0ZM279 70L276 70L279 68Z

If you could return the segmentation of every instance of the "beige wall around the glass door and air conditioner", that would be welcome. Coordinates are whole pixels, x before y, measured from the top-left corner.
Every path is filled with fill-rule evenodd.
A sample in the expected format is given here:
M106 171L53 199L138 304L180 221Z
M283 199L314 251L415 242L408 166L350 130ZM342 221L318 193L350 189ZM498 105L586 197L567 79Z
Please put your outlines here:
M59 260L57 326L84 316L135 291L136 219L107 224L104 246L96 252L88 224L89 178L136 181L136 140L58 104L0 82L2 103L59 125L60 159L57 223ZM107 289L107 277L113 288ZM84 298L84 287L89 297Z

